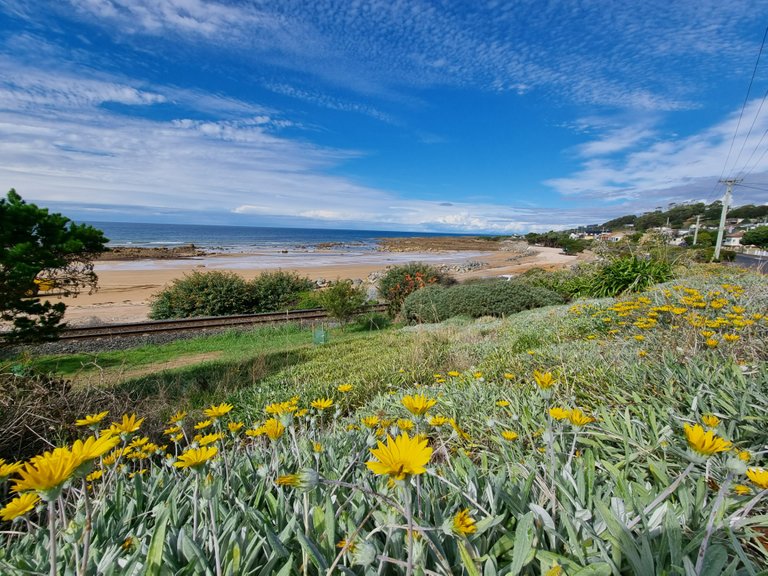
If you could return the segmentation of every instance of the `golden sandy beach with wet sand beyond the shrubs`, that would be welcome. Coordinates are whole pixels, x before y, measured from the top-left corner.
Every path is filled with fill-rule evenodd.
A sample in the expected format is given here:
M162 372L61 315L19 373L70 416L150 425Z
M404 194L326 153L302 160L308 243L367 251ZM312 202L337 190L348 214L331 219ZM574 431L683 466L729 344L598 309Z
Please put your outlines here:
M473 247L474 248L474 247ZM481 269L454 273L459 280L520 274L533 267L561 268L577 258L556 248L536 247L530 254L508 251L425 250L422 252L372 251L369 253L259 252L253 254L205 255L185 259L103 260L96 263L98 290L66 298L65 321L70 325L141 322L147 319L153 294L176 278L194 270L222 270L253 278L267 270L294 271L312 280L360 279L368 283L373 272L388 266L421 261L434 265L461 266L482 262Z

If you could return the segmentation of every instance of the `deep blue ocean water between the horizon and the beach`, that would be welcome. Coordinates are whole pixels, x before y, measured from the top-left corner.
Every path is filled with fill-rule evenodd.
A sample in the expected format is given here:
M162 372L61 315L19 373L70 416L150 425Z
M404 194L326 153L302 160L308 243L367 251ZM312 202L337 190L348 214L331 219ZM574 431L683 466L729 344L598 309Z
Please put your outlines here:
M345 251L375 248L379 238L447 236L420 232L371 230L320 230L313 228L262 228L251 226L202 226L196 224L142 224L88 222L103 230L110 246L173 247L194 244L214 252L249 252L309 248L324 242L339 242Z

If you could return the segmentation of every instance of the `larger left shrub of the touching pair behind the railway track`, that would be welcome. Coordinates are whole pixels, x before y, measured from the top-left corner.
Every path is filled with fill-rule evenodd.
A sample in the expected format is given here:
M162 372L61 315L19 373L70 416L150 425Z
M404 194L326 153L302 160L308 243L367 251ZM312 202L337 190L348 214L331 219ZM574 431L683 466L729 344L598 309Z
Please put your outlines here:
M194 271L174 280L150 302L153 319L226 316L253 310L248 283L232 272Z

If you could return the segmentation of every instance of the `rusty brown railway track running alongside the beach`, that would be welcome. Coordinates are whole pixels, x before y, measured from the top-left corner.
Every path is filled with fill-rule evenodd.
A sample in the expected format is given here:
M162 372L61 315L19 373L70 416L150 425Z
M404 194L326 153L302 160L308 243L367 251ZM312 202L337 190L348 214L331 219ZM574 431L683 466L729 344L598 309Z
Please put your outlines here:
M384 312L386 304L369 306L365 312ZM329 319L321 309L289 310L285 312L266 312L262 314L239 314L236 316L206 316L201 318L181 318L178 320L153 320L149 322L130 322L124 324L104 324L82 328L68 328L59 335L59 340L90 340L97 338L120 338L143 334L167 332L189 332L192 330L211 330L235 326L253 326L257 324L281 324L286 322L319 322Z

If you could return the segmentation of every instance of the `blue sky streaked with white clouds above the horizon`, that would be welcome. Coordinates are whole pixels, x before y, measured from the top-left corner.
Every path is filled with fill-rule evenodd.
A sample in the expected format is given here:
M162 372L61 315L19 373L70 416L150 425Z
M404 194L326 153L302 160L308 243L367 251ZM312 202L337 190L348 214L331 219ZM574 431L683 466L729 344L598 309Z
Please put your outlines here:
M431 232L729 176L765 203L766 25L768 0L0 0L0 187L85 220Z

